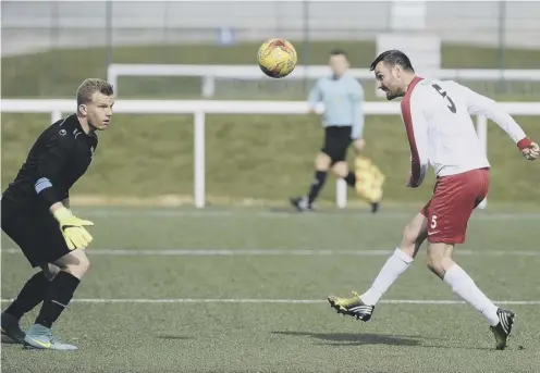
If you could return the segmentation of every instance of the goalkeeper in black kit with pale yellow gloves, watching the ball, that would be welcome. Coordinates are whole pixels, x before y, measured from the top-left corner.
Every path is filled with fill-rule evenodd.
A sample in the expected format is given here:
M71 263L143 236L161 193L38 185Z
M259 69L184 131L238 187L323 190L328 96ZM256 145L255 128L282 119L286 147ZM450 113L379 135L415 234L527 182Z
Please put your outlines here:
M90 165L96 132L109 126L113 102L107 82L84 80L77 90L76 113L41 133L2 195L2 231L33 268L40 268L1 314L2 334L26 347L76 349L51 332L89 266L84 249L91 241L86 226L93 223L72 214L69 190ZM41 302L34 325L24 333L21 318Z

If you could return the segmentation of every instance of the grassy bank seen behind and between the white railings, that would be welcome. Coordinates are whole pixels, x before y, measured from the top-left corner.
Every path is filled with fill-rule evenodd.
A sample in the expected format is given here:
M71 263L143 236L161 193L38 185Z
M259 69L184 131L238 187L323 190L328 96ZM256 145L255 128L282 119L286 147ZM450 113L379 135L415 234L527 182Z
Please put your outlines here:
M294 40L293 40L294 41ZM257 45L148 46L114 48L115 63L233 63L254 64ZM327 63L328 51L341 47L355 67L367 67L376 52L373 42L311 42L309 63ZM299 53L300 63L303 61ZM538 50L505 49L507 69L538 67ZM58 61L63 63L59 64ZM61 50L2 59L4 98L73 98L88 76L106 76L105 49ZM443 45L442 67L496 67L495 48ZM45 73L47 72L47 73ZM267 83L268 82L268 83ZM367 100L371 82L363 82ZM305 100L312 82L275 80L217 83L216 99ZM200 99L200 78L119 79L124 98ZM504 101L540 101L540 84L467 82L467 85ZM516 117L532 138L540 138L538 117ZM49 124L49 115L2 114L2 173L7 185L15 175L28 147ZM24 128L22 130L21 128ZM408 175L409 151L401 119L366 119L365 154L386 174L386 203L421 203L429 197L433 177L420 190L403 187ZM206 132L207 197L213 204L282 204L290 195L306 192L314 157L321 146L320 120L304 115L208 115ZM494 123L489 125L489 158L493 165L490 198L494 202L540 204L540 165L525 162L512 140ZM353 154L351 154L353 156ZM334 200L333 178L320 202ZM100 134L95 163L78 183L74 196L100 195L115 200L173 195L179 203L193 203L193 117L191 115L115 114L107 133ZM88 201L85 198L85 201ZM125 198L124 198L125 200ZM101 198L101 201L103 199ZM358 202L352 195L349 201ZM361 202L358 202L359 206Z

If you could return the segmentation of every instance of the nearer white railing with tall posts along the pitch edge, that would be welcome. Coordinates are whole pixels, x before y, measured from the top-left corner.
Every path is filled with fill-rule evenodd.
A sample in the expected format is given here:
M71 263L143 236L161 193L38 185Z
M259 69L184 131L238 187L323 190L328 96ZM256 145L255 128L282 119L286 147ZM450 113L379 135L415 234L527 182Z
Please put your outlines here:
M540 102L501 102L513 115L540 115ZM51 123L59 121L62 113L76 110L73 100L0 100L2 113L50 113ZM365 102L365 115L401 115L400 102ZM317 112L324 110L320 104ZM119 100L115 113L132 114L194 114L194 197L197 208L205 207L205 114L306 114L308 104L303 101L217 101L217 100ZM484 151L488 147L488 120L477 116L477 133ZM336 184L336 204L346 207L347 186L342 179ZM486 208L486 200L480 206Z

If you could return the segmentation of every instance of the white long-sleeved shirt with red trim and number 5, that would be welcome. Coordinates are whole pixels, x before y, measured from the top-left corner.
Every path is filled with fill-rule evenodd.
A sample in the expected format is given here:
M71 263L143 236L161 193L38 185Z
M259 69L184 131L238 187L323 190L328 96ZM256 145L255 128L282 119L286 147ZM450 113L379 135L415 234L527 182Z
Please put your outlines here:
M410 146L413 187L421 184L429 165L438 176L490 167L470 114L491 119L519 148L530 142L495 101L453 80L415 77L401 108Z

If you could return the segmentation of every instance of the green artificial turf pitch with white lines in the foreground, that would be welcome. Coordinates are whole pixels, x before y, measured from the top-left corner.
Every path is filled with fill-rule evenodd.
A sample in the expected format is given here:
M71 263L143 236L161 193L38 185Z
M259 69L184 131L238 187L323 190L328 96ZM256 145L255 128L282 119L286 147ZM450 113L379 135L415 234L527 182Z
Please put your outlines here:
M56 330L79 350L3 344L3 372L533 373L540 365L538 212L477 212L456 254L517 313L505 351L493 350L481 315L427 270L425 251L368 323L326 302L370 285L414 210L76 212L96 223L91 268ZM4 299L30 273L10 248L2 237Z

